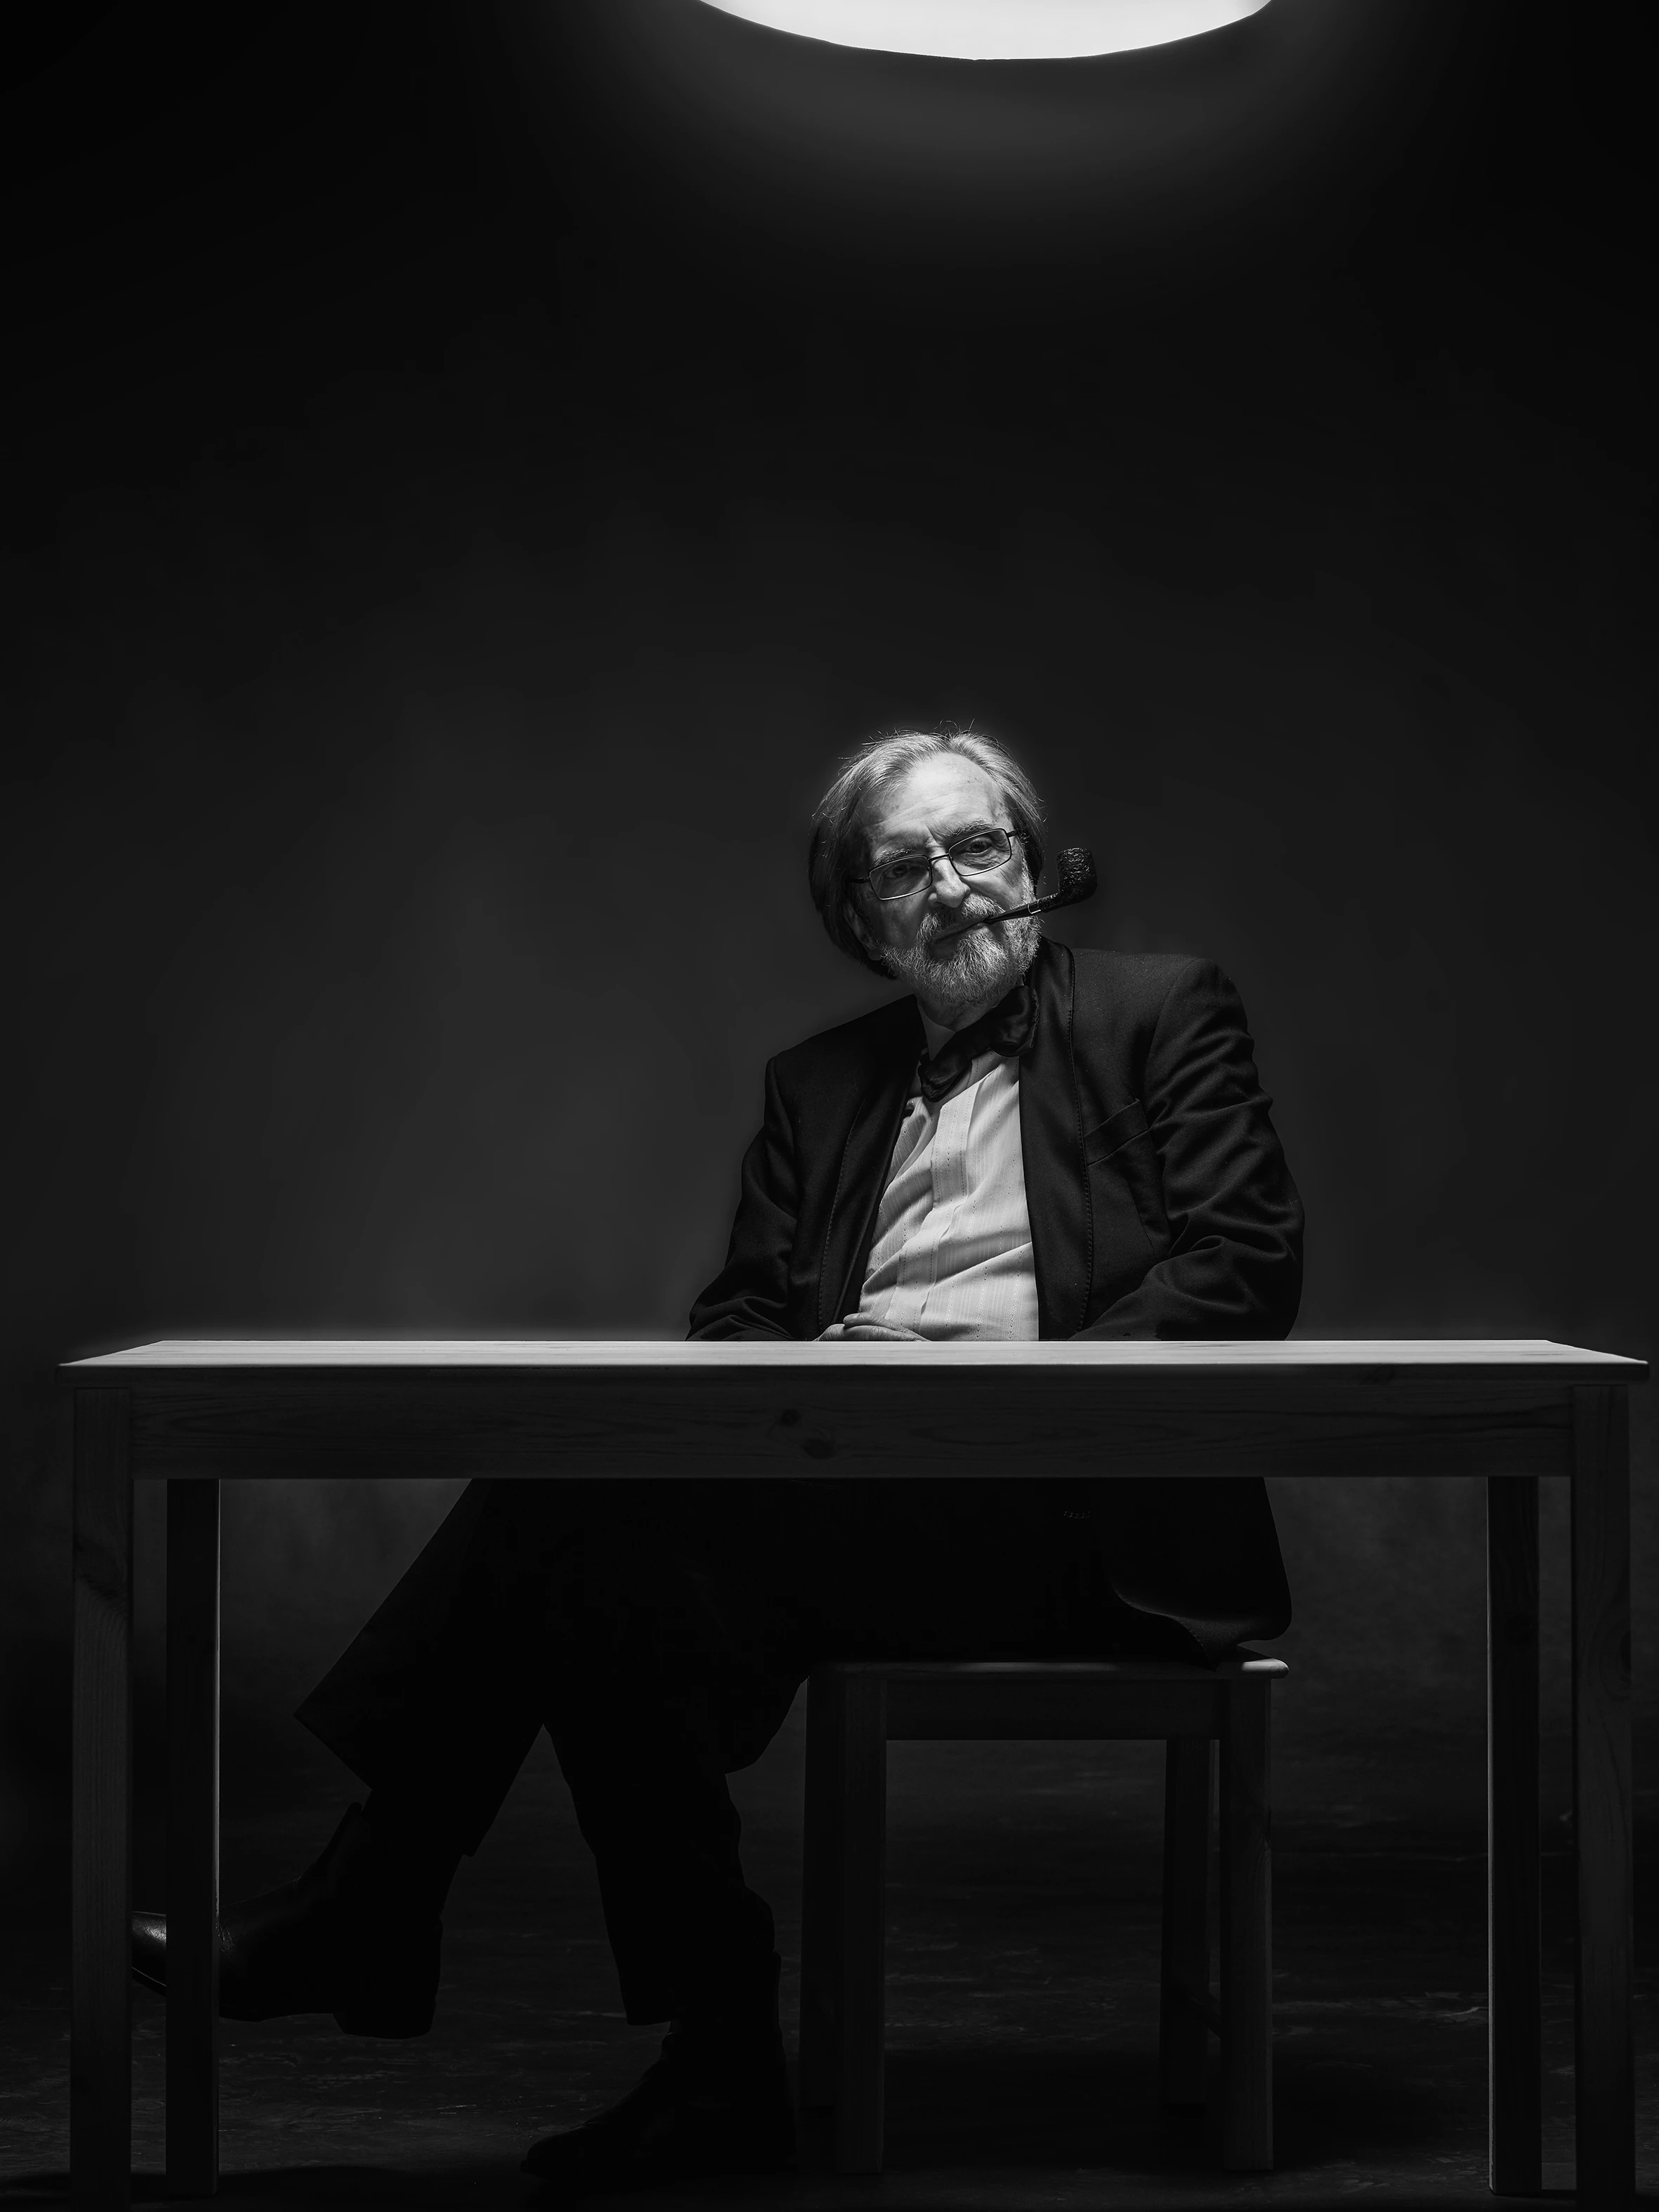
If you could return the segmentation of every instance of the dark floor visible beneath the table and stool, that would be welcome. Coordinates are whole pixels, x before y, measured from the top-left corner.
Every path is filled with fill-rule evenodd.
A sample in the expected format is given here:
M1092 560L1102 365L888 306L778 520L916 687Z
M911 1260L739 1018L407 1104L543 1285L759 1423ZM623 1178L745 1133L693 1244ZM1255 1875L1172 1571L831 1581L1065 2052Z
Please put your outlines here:
M226 1814L226 1893L314 1854L338 1809ZM779 1913L794 2028L801 1714L734 1778L752 1882ZM712 2183L695 2203L1031 2208L1486 2197L1484 1860L1478 1743L1329 1754L1276 1774L1279 2170L1225 2179L1214 2126L1157 2106L1161 1747L891 1752L887 2172ZM150 1851L153 1856L153 1851ZM139 1851L142 1878L146 1851ZM1566 1858L1546 1860L1546 2179L1571 2185ZM66 2192L69 2004L42 1911L0 2015L0 2203ZM1655 1980L1637 2004L1639 2170L1659 2185ZM161 2197L161 2004L135 2000L139 2194ZM606 2104L655 2055L617 2004L591 1867L546 1745L447 1913L445 1993L418 2044L332 2022L226 2026L230 2201L518 2205L524 2146ZM646 2203L646 2199L637 2199ZM659 2203L664 2199L650 2199Z

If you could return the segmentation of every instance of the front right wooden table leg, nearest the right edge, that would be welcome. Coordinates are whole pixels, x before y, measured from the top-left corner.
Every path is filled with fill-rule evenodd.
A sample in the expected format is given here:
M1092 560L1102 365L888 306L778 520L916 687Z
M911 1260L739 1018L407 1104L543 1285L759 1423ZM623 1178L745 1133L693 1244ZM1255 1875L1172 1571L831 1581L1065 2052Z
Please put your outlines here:
M1630 1984L1630 1407L1573 1391L1573 1836L1577 1843L1577 2201L1635 2194Z

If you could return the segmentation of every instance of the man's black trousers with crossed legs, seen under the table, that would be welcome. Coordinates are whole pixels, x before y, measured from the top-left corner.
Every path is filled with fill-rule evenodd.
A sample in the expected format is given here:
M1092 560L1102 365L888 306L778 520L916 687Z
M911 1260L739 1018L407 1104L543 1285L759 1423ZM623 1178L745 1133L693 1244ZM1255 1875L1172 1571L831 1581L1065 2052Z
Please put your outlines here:
M299 1710L471 1851L546 1728L633 2022L772 1964L726 1776L823 1659L1199 1657L1066 1482L473 1482Z

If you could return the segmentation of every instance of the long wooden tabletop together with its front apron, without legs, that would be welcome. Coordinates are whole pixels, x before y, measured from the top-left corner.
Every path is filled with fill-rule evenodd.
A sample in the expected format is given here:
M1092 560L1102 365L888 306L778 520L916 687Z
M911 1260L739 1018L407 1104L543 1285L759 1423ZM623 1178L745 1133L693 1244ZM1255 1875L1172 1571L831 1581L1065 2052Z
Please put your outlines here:
M133 1475L1548 1475L1641 1360L1528 1338L161 1340L60 1369Z

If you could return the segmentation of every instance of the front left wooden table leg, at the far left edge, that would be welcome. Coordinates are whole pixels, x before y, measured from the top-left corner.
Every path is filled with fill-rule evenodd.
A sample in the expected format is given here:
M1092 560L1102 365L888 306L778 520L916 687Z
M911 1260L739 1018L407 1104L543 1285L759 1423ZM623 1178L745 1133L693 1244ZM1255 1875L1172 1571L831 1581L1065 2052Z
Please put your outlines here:
M124 1389L75 1391L69 2174L77 2212L133 2181L133 1482Z

